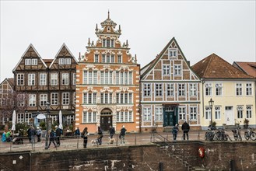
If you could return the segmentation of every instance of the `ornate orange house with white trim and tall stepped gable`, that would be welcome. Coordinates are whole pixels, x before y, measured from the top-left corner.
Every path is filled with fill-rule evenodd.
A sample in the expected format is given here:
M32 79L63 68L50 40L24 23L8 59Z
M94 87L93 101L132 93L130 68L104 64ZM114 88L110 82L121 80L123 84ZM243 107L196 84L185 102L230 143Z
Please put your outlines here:
M75 125L80 130L97 127L108 131L139 131L139 65L129 54L128 41L121 44L121 26L110 19L96 25L98 40L88 42L76 69Z

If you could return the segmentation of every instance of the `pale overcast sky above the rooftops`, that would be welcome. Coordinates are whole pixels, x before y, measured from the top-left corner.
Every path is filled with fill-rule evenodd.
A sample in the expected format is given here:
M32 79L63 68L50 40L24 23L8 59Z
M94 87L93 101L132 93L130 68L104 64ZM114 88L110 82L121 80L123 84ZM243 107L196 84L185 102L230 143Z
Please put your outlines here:
M26 48L54 58L65 43L75 58L96 39L96 23L121 25L141 68L175 37L191 65L209 54L224 60L256 61L255 1L2 1L0 81L13 78Z

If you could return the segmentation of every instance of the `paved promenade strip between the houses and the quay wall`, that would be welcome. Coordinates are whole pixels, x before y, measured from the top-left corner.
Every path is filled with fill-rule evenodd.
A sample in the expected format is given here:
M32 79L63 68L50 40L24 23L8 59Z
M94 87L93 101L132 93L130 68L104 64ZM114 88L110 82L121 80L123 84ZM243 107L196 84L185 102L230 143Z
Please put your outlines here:
M230 135L232 141L233 132L228 130L227 133ZM173 141L173 136L171 132L159 132L167 141ZM244 139L244 130L240 131L240 134ZM177 141L182 140L183 133L179 131L177 134ZM92 134L88 137L88 145L87 148L101 148L101 147L114 147L120 145L120 140L118 138L118 134L114 135L114 139L116 140L113 144L109 143L109 134L104 134L103 136L103 144L102 145L93 145L92 140L96 140L96 135ZM36 138L37 140L37 138ZM1 142L0 143L0 152L18 152L18 151L55 151L55 150L68 150L68 149L77 149L83 148L83 138L70 138L70 137L61 137L61 145L57 148L54 148L54 145L51 144L49 149L44 149L45 141L44 139L41 142L36 142L34 144L30 143L27 138L24 138L24 143L21 145L13 145L12 142ZM146 145L150 144L153 141L160 141L153 137L151 133L141 133L141 134L126 134L125 135L125 146L128 145ZM187 140L186 140L187 141ZM205 141L205 131L190 131L189 132L189 141ZM255 141L256 142L256 141Z

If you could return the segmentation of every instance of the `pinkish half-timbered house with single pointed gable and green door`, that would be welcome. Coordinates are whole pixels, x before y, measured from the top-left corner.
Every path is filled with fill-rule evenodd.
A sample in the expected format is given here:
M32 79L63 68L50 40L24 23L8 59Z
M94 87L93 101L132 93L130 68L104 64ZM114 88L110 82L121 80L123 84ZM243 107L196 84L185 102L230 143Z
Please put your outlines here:
M142 131L163 129L187 121L199 127L200 79L175 38L141 69Z

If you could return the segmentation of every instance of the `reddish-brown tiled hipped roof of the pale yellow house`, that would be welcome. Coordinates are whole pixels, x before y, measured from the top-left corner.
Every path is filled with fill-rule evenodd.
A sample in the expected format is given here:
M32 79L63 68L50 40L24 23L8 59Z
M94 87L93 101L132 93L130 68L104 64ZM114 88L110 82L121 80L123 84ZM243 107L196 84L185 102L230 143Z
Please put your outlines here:
M205 79L253 79L216 54L198 61L192 68L197 75Z

